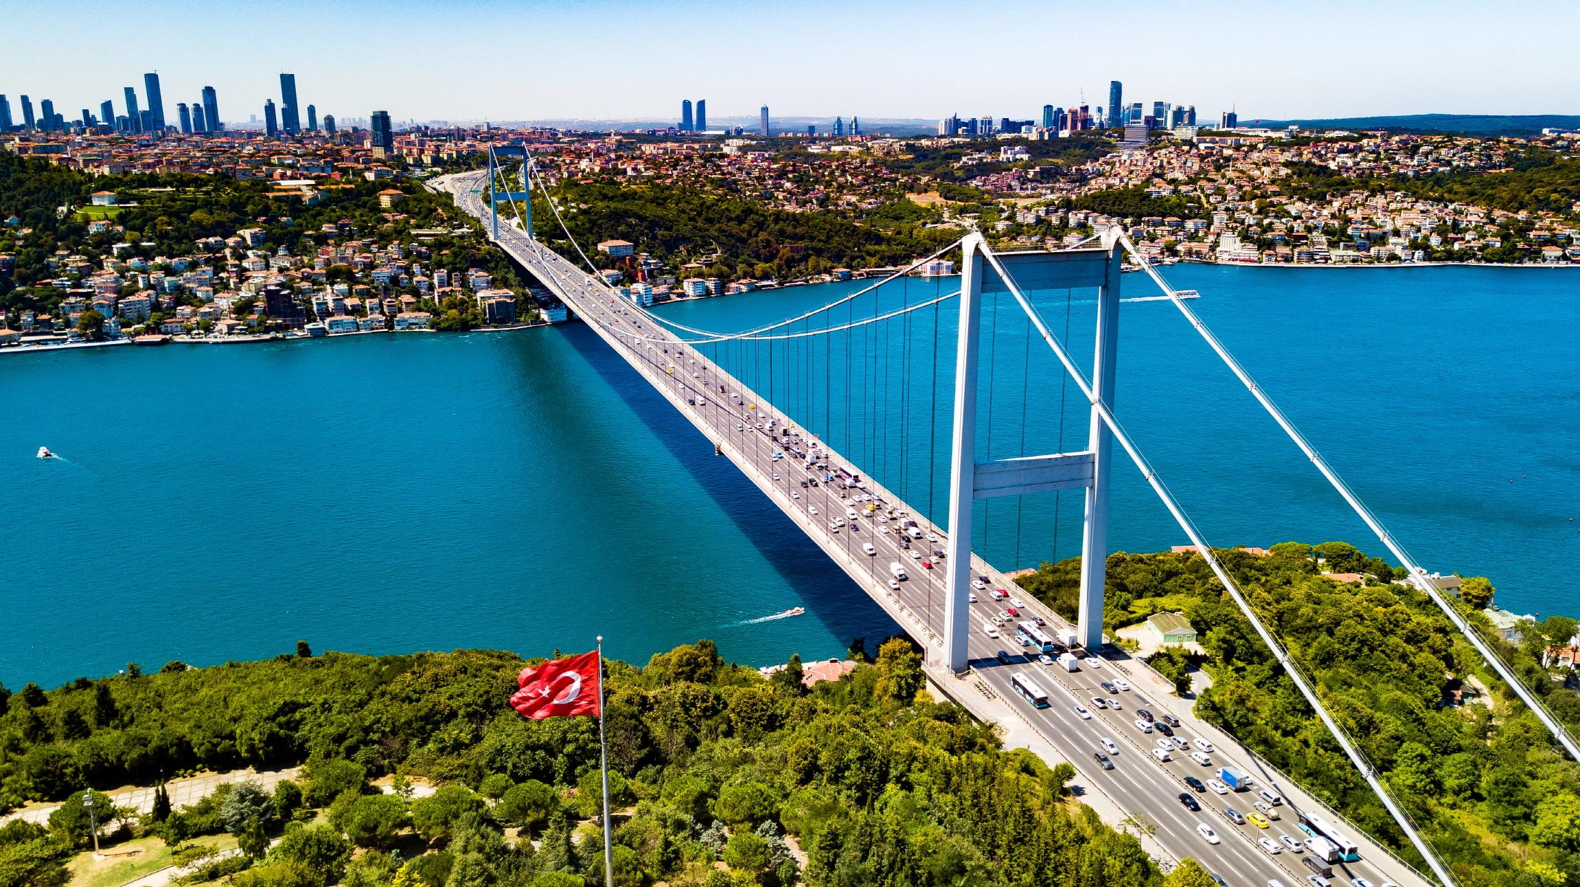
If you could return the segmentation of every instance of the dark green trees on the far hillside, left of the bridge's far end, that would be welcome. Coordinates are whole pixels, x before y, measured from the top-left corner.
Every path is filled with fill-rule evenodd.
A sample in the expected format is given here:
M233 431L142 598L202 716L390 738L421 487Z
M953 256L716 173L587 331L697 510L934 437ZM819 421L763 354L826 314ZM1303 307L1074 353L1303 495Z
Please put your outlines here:
M393 209L379 206L378 193L395 188L406 198ZM88 232L88 218L76 212L93 191L115 191L122 206L106 213L122 231ZM16 256L16 270L0 274L0 311L54 310L63 293L41 286L55 278L47 259L57 250L81 253L90 259L111 255L120 242L147 243L134 255L186 256L198 250L202 237L229 237L243 228L262 228L262 248L284 247L292 255L325 245L330 237L318 231L325 223L351 223L351 234L337 240L370 239L379 243L412 242L412 231L442 229L430 236L427 245L433 259L427 264L449 270L487 269L498 286L520 288L521 281L504 253L490 247L482 229L447 196L433 194L412 180L381 179L329 183L318 206L299 198L278 198L267 182L243 182L223 176L88 176L65 169L46 160L0 152L0 220L16 215L21 225L6 247L0 232L0 251ZM65 213L58 207L68 207ZM21 234L30 228L30 234ZM466 228L463 234L455 229ZM95 261L96 264L96 261ZM348 269L349 270L349 269Z

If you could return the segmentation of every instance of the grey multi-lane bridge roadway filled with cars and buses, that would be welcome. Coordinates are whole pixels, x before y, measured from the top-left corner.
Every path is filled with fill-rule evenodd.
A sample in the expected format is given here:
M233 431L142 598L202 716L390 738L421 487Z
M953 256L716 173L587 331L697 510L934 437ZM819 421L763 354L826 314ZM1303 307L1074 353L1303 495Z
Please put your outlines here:
M485 172L455 174L434 180L433 187L450 193L458 206L485 220L487 225L487 206L474 193L485 182ZM988 591L978 591L980 601L970 604L970 675L956 678L937 667L935 662L942 659L943 644L945 571L927 569L921 566L921 560L937 561L934 552L943 549L945 533L942 528L932 525L926 515L910 509L872 477L863 476L844 457L830 451L811 432L776 411L773 405L758 398L730 373L716 367L667 329L645 319L640 311L618 299L602 281L583 274L553 250L528 239L514 225L506 228L501 220L498 245L586 321L708 441L716 444L717 452L727 455L856 585L866 590L896 623L927 648L931 662L927 674L934 686L975 715L1002 724L1011 742L1019 737L1024 742L1018 745L1027 745L1044 757L1071 762L1079 773L1078 791L1085 792L1085 800L1111 825L1120 825L1127 816L1150 821L1155 832L1150 838L1144 836L1142 841L1149 844L1149 852L1153 855L1176 860L1187 855L1194 857L1232 887L1266 887L1272 879L1285 887L1307 884L1310 871L1299 860L1304 854L1292 854L1288 847L1281 847L1281 852L1272 855L1259 847L1256 840L1267 836L1277 841L1278 835L1305 838L1296 827L1296 810L1318 811L1343 827L1345 824L1337 814L1324 810L1292 781L1261 765L1231 737L1198 721L1187 704L1169 699L1171 686L1161 677L1128 659L1122 651L1098 651L1095 659L1082 662L1081 670L1066 672L1062 667L1025 658L1022 648L1013 640L1013 621L1005 626L1008 631L1000 629L1003 637L997 640L988 637L983 631L984 625L991 623L992 617L1005 606L995 604ZM814 447L820 457L818 462L826 462L828 468L807 468L804 460L793 455L793 449L814 452ZM776 452L782 452L784 457L776 459ZM828 482L830 474L837 481L860 481L853 489L844 489ZM817 485L812 485L814 481ZM871 496L871 500L847 501L847 496ZM867 515L867 506L877 508L872 517ZM847 509L855 511L856 519L852 520ZM891 511L893 517L888 517ZM830 525L836 517L845 522L837 530ZM883 520L885 517L888 520ZM905 520L915 520L923 533L923 539L913 541L910 549L902 547L905 542L901 530ZM871 544L877 553L867 555L863 549L864 542ZM912 557L912 552L920 552L921 557ZM890 564L896 561L904 566L907 574L905 580L896 582L897 590L890 583ZM972 566L973 576L986 577L989 588L1003 588L1024 598L1022 602L1027 606L1021 607L1021 612L1041 615L1049 632L1070 628L1065 620L1048 610L1040 601L1024 594L981 558L973 555ZM995 661L995 655L1002 650L1013 653L1011 666L1000 666ZM1049 693L1051 705L1033 708L1019 697L1010 686L1010 675L1014 672L1027 674L1041 685ZM1123 677L1133 689L1117 694L1101 689L1101 681L1119 677ZM1095 708L1093 696L1117 700L1123 708L1119 711ZM1166 699L1168 702L1164 702ZM1090 719L1076 713L1076 704L1090 711ZM1142 734L1134 726L1138 708L1179 718L1180 727L1176 729L1176 735L1187 740L1207 738L1215 748L1210 756L1212 765L1199 765L1179 749L1166 764L1153 759L1150 749L1161 737ZM1117 754L1109 754L1114 762L1112 770L1103 770L1093 759L1093 753L1103 751L1101 738L1114 742L1119 748ZM1240 754L1231 754L1231 749ZM1253 803L1258 800L1255 789L1229 795L1210 791L1191 792L1202 810L1198 813L1187 810L1177 800L1180 792L1190 791L1182 781L1183 776L1194 775L1207 781L1220 765L1239 765L1253 773L1256 787L1275 784L1275 791L1285 797L1285 805L1277 808L1283 817L1272 822L1270 828L1258 828L1250 824L1236 825L1221 813L1226 805L1234 806L1242 814L1253 813ZM1209 824L1221 843L1212 844L1201 836L1198 833L1199 824ZM1362 862L1335 865L1335 882L1349 884L1349 878L1360 876L1375 887L1427 884L1417 873L1367 840L1359 828L1351 827L1349 838L1359 843Z

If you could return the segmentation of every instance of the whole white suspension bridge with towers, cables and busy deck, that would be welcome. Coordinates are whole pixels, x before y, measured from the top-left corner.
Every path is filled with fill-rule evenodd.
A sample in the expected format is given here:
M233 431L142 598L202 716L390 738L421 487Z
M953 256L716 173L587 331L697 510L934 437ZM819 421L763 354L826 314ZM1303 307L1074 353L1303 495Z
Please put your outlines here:
M499 179L506 171L501 160L517 158L525 190L501 188ZM833 302L773 324L719 332L684 326L651 311L641 299L632 299L627 291L592 274L596 264L570 237L561 207L551 198L544 202L566 240L580 253L586 270L540 243L532 236L531 223L531 187L536 183L529 155L514 147L490 152L487 171L447 176L431 187L450 193L460 207L485 221L491 239L506 253L575 311L695 425L716 454L728 457L768 501L916 639L926 650L926 670L935 689L975 715L1005 726L1021 745L1071 762L1089 792L1087 800L1111 824L1123 822L1141 832L1155 855L1164 860L1194 857L1229 884L1305 882L1310 871L1302 866L1300 857L1307 852L1272 840L1278 835L1305 838L1294 827L1296 813L1302 813L1340 822L1345 836L1356 841L1357 859L1337 863L1346 879L1403 885L1428 884L1435 878L1454 884L1408 813L1381 783L1379 773L1334 721L1311 681L1251 610L1179 500L1119 422L1114 383L1120 302L1130 300L1120 299L1127 253L1138 259L1161 293L1134 300L1161 299L1179 308L1191 329L1406 566L1411 582L1504 674L1566 751L1580 759L1580 748L1556 718L1443 599L1425 571L1256 386L1187 305L1185 296L1139 256L1123 232L1111 231L1062 251L1025 253L995 253L973 232ZM515 218L504 226L498 215L501 206L515 209ZM927 283L918 286L908 277L951 250L959 250L961 256L957 288L951 283L945 291L942 281L934 280L929 291ZM1054 332L1057 323L1046 319L1052 313L1049 300L1040 297L1046 293L1063 293L1062 335ZM1071 335L1070 307L1078 294L1095 307L1092 356L1084 365L1071 349L1076 337ZM984 305L989 311L986 321ZM1024 327L1021 335L1002 334L1016 324ZM1000 345L1000 335L1005 335L1005 345ZM946 342L950 338L953 345ZM1019 354L1014 354L1016 348ZM1073 386L1071 398L1085 421L1084 433L1066 441L1065 405L1060 403L1057 435L1046 435L1057 438L1052 452L1029 452L1043 449L1033 446L1041 435L1033 433L1030 444L1027 436L1029 427L1038 430L1029 421L1033 348L1057 362L1060 400ZM1008 362L1021 357L1021 365L1003 370L999 364L1003 354ZM999 394L1005 379L1013 389L1016 370L1022 378L1019 397L1013 391ZM994 430L995 416L1013 416L1016 411L1018 427L1000 424L1000 430ZM1041 432L1052 428L1044 422ZM1198 721L1187 705L1169 702L1166 681L1106 644L1103 571L1109 552L1108 496L1120 455L1141 471L1206 558L1387 806L1431 878L1322 808L1297 784L1234 743L1232 737ZM1008 536L1016 545L1013 560L1019 561L1025 503L1046 500L1046 493L1057 500L1065 492L1081 498L1082 511L1079 612L1073 625L1024 594L978 553L978 549L992 549L989 531L994 522L1002 527L1013 519L1014 530ZM934 515L940 512L943 522L935 523ZM1055 536L1059 512L1055 504ZM1005 534L1000 531L999 538ZM1000 593L1005 599L999 599ZM1003 610L1010 606L1019 615L1005 620ZM1019 645L1006 637L1014 634L1018 620L1043 623L1049 634L1060 637L1059 650L1068 648L1074 661L1055 664L1051 658L1038 661L1021 653ZM1010 650L1013 656L1006 653ZM1013 681L1014 675L1021 677L1021 686ZM1092 705L1093 696L1104 697L1101 683L1120 675L1133 683L1133 693L1108 697L1123 699L1127 708ZM1052 691L1046 707L1033 707L1024 699L1027 680ZM1187 751L1199 746L1183 743L1160 761L1160 751L1171 742L1152 732L1142 734L1141 721L1131 724L1128 710L1136 707L1176 718L1182 738L1209 740L1215 746L1210 768L1187 759ZM1109 754L1112 768L1098 761L1097 753L1103 751ZM1206 779L1221 765L1242 767L1262 786L1275 783L1288 802L1281 805L1288 817L1258 830L1236 825L1220 813L1224 805L1250 813L1255 797L1199 794L1194 797L1207 808L1201 813L1187 810L1176 798L1187 789L1185 776ZM1213 832L1212 838L1202 833L1202 825Z

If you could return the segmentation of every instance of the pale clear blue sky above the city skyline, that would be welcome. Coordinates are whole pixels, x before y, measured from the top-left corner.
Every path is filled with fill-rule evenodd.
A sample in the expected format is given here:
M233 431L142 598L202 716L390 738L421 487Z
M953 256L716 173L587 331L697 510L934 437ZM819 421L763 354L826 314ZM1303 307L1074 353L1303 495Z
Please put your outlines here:
M73 117L158 70L245 120L278 74L319 114L397 120L1033 117L1044 103L1217 115L1580 112L1580 5L1403 2L8 0L0 92Z

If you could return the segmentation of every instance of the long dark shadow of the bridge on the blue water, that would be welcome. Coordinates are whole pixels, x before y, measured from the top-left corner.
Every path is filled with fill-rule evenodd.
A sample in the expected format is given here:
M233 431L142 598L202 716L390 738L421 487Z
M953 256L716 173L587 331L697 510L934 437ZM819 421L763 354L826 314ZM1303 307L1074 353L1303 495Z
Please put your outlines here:
M664 443L719 511L752 541L801 598L807 615L815 615L841 644L855 637L867 639L869 651L877 640L904 631L779 506L747 481L728 457L717 455L714 441L681 416L596 332L585 323L564 324L556 330Z

